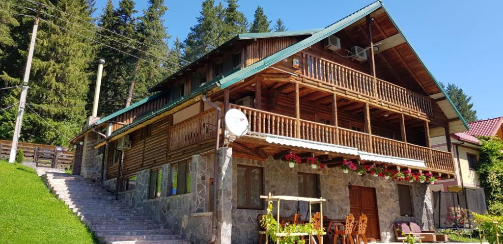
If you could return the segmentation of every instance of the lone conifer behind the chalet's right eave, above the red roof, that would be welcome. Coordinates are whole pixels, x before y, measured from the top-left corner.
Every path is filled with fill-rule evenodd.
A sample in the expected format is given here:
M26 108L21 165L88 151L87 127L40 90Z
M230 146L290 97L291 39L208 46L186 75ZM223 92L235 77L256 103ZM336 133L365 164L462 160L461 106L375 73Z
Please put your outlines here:
M441 86L445 88L443 84ZM445 91L467 122L477 120L477 110L473 109L473 103L470 102L471 96L467 96L463 89L454 84L448 84Z

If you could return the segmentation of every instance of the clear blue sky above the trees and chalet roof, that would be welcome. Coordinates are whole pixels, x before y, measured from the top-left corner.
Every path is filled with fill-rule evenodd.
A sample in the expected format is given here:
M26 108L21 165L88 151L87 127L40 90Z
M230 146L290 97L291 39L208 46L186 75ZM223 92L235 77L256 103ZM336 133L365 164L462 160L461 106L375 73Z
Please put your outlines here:
M113 0L117 6L118 0ZM139 11L146 0L136 0ZM216 0L215 2L218 2ZM289 30L325 27L372 3L369 0L240 0L248 22L258 5L273 21L281 18ZM98 0L97 14L106 1ZM170 9L165 26L183 41L196 24L202 0L165 0ZM472 97L479 119L503 116L503 1L385 0L384 4L435 77L454 83ZM482 4L483 3L483 4ZM174 38L173 38L174 39Z

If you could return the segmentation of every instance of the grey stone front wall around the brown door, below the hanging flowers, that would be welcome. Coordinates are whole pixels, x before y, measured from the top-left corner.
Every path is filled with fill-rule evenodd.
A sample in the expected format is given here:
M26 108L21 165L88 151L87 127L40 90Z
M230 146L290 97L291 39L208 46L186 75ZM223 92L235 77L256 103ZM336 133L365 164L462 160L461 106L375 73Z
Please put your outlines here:
M329 218L345 218L350 213L349 187L355 186L376 188L377 206L379 213L379 227L381 240L394 240L391 225L396 220L408 220L421 223L423 229L433 229L433 212L428 186L412 183L411 195L414 217L399 216L397 182L392 179L376 178L374 176L358 176L356 173L344 174L340 168L313 170L305 165L290 169L284 162L269 157L266 161L244 158L233 158L233 187L232 187L232 242L258 243L257 216L266 213L265 210L237 209L237 165L259 166L264 168L264 194L298 195L297 172L319 174L320 196L327 199L323 204L323 215ZM400 182L400 184L409 184ZM282 202L281 214L291 216L297 211L297 203Z

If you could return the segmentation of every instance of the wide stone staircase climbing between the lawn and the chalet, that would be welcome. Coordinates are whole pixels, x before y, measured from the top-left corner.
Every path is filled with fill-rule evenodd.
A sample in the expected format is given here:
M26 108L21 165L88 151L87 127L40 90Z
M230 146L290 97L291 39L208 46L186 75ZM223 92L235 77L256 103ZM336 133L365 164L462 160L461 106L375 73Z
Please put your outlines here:
M49 189L106 244L190 244L157 220L115 200L115 195L80 176L43 172Z

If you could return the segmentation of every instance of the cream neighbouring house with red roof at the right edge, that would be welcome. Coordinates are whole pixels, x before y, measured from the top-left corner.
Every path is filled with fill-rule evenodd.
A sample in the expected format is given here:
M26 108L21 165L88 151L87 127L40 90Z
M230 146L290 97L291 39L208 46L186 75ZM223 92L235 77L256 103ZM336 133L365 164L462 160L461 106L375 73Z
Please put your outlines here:
M439 181L430 187L433 191L457 192L462 186L479 188L480 182L476 167L480 158L480 141L478 136L497 136L503 138L503 117L470 122L470 130L451 134L451 147L454 148L456 178ZM432 138L432 147L440 150L447 149L445 137Z

